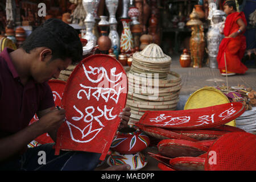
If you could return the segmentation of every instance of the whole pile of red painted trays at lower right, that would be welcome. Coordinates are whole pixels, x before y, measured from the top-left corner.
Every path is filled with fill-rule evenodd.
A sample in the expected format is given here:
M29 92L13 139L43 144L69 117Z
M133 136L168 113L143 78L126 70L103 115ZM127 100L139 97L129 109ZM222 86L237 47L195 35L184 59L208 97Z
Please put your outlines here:
M255 135L225 125L244 112L240 102L182 111L146 111L135 125L159 140L158 154L148 154L164 171L255 170L255 157L249 158L256 152ZM220 164L216 164L213 151L217 151ZM242 153L245 155L240 158ZM233 165L238 160L241 162Z

